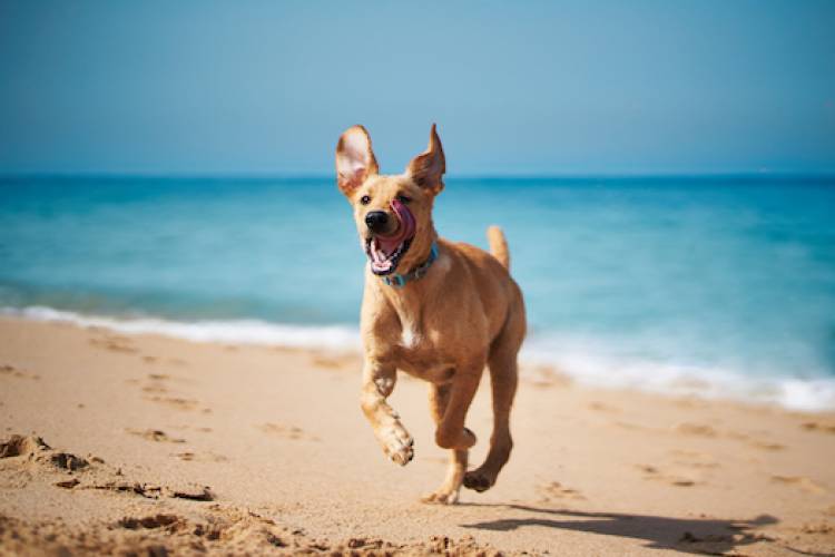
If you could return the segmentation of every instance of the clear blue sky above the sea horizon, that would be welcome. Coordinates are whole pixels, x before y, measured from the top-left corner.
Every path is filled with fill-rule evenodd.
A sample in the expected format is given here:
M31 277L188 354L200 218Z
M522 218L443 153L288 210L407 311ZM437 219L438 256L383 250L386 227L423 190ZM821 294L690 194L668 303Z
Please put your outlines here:
M835 2L0 0L0 173L835 173Z

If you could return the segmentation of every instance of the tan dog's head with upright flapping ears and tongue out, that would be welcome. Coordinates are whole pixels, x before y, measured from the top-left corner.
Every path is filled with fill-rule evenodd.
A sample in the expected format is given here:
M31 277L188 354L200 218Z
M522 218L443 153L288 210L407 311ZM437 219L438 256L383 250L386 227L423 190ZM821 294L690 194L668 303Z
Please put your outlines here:
M443 189L446 169L434 124L429 148L405 173L377 174L371 137L362 126L348 128L336 145L336 180L354 207L360 240L376 275L407 272L428 256L435 240L432 203Z

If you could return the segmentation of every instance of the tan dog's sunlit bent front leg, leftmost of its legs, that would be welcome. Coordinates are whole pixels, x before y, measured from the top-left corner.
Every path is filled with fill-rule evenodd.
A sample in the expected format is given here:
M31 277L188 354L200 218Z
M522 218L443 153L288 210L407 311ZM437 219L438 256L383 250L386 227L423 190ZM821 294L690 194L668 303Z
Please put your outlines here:
M366 361L363 370L362 409L390 459L406 466L414 456L414 440L400 422L400 416L385 399L394 390L397 371L392 365Z

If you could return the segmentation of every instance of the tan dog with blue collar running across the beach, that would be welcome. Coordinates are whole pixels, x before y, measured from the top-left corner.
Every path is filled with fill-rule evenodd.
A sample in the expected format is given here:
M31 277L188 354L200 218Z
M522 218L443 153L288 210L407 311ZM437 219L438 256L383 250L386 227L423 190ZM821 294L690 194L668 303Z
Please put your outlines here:
M432 126L429 148L399 176L377 174L371 137L347 129L336 147L338 187L354 208L370 265L361 331L365 352L362 409L383 451L405 466L413 440L389 405L397 370L430 382L435 442L451 449L446 479L426 502L452 504L461 483L490 489L510 457L510 409L517 352L525 332L524 303L508 273L508 247L488 229L492 255L438 237L432 205L443 189L445 160ZM484 365L490 368L493 434L478 469L466 472L475 436L464 427Z

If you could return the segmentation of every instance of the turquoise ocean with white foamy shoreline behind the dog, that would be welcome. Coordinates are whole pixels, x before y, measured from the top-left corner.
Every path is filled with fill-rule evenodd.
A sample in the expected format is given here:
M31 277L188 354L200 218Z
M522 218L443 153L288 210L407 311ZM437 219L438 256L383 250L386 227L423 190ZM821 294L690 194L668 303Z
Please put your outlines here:
M835 409L835 179L448 178L502 226L529 364ZM365 256L326 178L0 178L0 311L197 341L358 346Z

